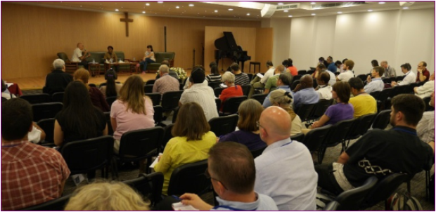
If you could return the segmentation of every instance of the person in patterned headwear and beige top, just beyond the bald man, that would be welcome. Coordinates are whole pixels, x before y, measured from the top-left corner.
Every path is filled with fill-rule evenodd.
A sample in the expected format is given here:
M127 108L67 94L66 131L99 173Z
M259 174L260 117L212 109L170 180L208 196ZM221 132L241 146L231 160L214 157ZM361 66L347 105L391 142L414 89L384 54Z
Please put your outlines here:
M302 122L300 117L295 114L293 110L293 98L290 92L287 92L282 89L277 89L271 92L269 96L269 100L271 101L273 106L278 106L286 110L290 115L290 119L292 120L292 128L290 131L290 136L297 135L298 133L302 133Z

